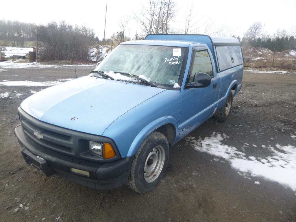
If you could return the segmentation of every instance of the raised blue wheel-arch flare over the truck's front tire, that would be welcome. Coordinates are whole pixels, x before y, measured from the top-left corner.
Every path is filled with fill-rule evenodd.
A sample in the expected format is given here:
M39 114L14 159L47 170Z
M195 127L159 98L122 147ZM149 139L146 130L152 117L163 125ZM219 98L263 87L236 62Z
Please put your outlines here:
M160 126L163 126L165 124L173 124L173 126L175 127L175 136L174 136L174 140L172 142L172 144L177 140L177 137L179 136L179 129L178 129L178 122L176 120L175 117L168 115L168 116L163 116L160 117L154 121L152 121L151 123L149 123L147 126L145 126L140 132L139 134L136 136L136 138L133 140L130 149L128 150L128 153L126 156L130 157L135 155L135 153L137 152L139 146L141 145L141 143L144 141L144 139L153 131L155 131L157 128L159 128Z

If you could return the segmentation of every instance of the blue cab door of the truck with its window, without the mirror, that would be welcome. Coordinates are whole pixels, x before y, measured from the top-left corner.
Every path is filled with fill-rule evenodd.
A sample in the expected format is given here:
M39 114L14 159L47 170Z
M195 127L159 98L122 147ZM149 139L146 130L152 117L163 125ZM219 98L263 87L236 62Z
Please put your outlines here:
M211 77L211 84L205 88L187 89L185 84L184 89L181 90L180 138L210 118L217 107L220 84L213 63L212 54L206 47L193 48L186 83L193 81L195 73L207 73Z

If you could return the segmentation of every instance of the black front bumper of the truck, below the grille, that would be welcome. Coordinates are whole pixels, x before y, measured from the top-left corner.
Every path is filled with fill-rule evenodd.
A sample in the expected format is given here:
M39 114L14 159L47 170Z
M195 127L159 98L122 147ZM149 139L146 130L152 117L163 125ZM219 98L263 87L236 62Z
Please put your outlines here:
M46 176L56 174L96 189L113 189L128 181L133 157L110 163L92 162L42 147L30 139L21 126L15 128L15 136L22 147L21 152L25 161L41 170ZM70 168L87 171L89 177L73 173Z

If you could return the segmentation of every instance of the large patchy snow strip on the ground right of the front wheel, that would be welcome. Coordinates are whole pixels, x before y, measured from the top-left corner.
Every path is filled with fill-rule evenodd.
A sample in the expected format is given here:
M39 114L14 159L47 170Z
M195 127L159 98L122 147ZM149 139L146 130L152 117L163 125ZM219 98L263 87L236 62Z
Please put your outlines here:
M296 135L296 132L294 132ZM293 139L295 135L291 135ZM285 187L291 188L296 195L296 144L276 144L272 147L269 144L252 144L246 141L242 147L232 147L223 144L229 136L221 133L213 133L210 137L196 140L194 137L187 137L189 141L200 152L206 152L221 160L214 158L214 161L228 162L232 168L237 170L240 176L246 179L254 179L254 184L260 185L258 178L278 182ZM255 147L256 149L265 149L270 155L265 158L247 156L245 151ZM294 176L293 176L294 175Z

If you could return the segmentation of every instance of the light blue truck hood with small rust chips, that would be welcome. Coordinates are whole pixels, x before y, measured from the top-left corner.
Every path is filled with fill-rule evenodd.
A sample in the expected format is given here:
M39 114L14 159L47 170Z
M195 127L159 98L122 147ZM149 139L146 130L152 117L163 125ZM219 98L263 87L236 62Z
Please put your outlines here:
M43 122L102 135L118 117L164 90L84 76L33 94L20 107Z

